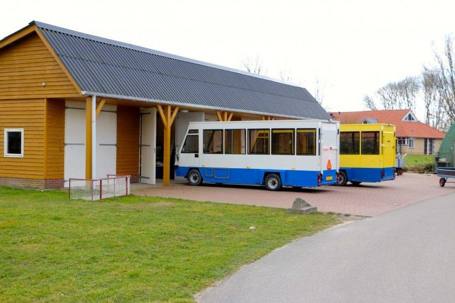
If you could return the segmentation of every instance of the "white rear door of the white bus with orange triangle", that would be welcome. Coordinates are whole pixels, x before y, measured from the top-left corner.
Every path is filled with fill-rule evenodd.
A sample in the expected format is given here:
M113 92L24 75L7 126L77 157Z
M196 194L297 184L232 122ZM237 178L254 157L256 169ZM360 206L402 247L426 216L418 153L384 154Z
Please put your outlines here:
M328 170L338 171L339 169L339 149L338 141L339 134L336 123L323 123L322 127L319 129L320 132L320 147L321 152L321 172ZM332 176L332 174L331 174ZM332 176L333 177L333 176ZM336 177L335 177L336 178ZM326 179L326 176L323 178L324 181L332 181Z

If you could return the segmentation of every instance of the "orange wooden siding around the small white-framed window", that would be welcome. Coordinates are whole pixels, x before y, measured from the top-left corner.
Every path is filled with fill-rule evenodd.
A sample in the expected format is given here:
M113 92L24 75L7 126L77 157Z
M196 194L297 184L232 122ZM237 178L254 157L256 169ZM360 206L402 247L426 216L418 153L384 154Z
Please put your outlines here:
M44 177L45 99L0 102L0 177ZM24 157L4 157L5 128L24 129Z

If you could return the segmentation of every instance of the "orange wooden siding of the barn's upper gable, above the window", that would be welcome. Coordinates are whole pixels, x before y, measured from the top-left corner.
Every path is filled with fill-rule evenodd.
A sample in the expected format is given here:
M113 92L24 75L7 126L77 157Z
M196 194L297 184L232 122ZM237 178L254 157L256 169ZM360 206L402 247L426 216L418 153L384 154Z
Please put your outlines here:
M0 49L0 100L80 96L35 32Z

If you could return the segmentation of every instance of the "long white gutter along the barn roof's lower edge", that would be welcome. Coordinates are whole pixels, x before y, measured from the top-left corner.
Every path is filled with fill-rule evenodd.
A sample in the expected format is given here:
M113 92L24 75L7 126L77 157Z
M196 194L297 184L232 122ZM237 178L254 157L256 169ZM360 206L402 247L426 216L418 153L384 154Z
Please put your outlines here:
M220 108L220 107L214 107L214 106L204 106L204 105L188 104L188 103L181 103L181 102L170 102L170 101L141 98L141 97L129 97L129 96L122 96L122 95L116 95L116 94L110 94L110 93L99 93L99 92L86 91L86 90L82 90L81 93L84 96L92 96L92 97L98 96L98 97L102 97L102 98L112 98L112 99L122 99L122 100L130 100L130 101L157 103L157 104L163 104L163 105L181 106L181 107L195 108L195 109L207 109L207 110L212 110L212 111L229 111L229 112L245 113L245 114L253 114L253 115L274 116L274 117L288 118L288 119L303 119L303 120L311 119L311 118L298 117L298 116L287 116L287 115L246 111L246 110L233 110L233 109Z

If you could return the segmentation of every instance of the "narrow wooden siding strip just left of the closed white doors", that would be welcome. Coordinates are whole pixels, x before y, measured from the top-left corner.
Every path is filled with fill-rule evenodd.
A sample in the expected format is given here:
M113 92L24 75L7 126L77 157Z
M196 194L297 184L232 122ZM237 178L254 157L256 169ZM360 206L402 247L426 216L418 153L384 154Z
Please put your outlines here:
M65 153L65 100L47 100L45 126L45 179L63 179Z

